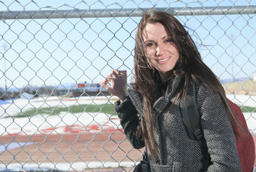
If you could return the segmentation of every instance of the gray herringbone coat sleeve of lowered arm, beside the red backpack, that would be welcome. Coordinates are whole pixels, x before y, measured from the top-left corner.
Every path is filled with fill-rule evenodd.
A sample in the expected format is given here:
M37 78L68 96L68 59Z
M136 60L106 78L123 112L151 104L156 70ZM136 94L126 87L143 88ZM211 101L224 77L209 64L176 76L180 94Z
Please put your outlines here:
M202 115L202 133L212 161L208 171L242 171L234 132L222 100L214 92L204 89L199 90L196 101Z

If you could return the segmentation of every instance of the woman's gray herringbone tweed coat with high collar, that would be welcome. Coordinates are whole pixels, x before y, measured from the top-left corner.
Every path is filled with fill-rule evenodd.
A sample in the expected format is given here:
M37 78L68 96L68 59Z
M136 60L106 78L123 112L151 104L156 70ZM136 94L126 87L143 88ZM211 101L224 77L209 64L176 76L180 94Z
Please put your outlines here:
M180 100L171 110L161 112L174 102L174 91L179 82L179 76L174 78L166 94L153 105L154 113L158 114L157 120L153 119L153 135L158 144L160 161L155 162L149 156L151 171L242 171L232 126L222 100L214 92L202 85L196 86L196 102L202 115L202 146L186 133L181 119ZM139 92L129 89L128 97L121 105L120 101L115 102L120 124L134 148L145 146L143 140L134 134L140 125L138 113L143 115L142 100ZM209 157L212 163L209 163Z

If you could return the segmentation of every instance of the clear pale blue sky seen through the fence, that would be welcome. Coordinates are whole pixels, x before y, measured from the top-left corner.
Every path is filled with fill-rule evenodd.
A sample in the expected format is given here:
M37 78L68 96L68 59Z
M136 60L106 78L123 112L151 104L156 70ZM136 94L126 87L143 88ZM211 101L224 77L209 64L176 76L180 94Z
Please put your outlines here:
M246 6L247 1L0 1L0 11L113 9L184 6ZM201 4L200 4L201 3ZM255 3L255 1L253 2ZM250 3L251 5L252 2ZM176 16L196 31L204 62L221 79L250 77L256 72L256 17L250 15ZM0 22L0 87L99 82L111 69L133 75L133 48L141 17L90 19L21 19ZM234 23L234 24L233 24ZM232 38L231 38L232 37ZM200 46L201 44L201 46ZM202 45L203 44L203 45ZM11 46L10 46L11 45ZM6 61L3 57L6 57ZM234 61L233 61L234 59Z

